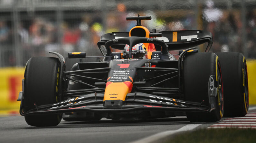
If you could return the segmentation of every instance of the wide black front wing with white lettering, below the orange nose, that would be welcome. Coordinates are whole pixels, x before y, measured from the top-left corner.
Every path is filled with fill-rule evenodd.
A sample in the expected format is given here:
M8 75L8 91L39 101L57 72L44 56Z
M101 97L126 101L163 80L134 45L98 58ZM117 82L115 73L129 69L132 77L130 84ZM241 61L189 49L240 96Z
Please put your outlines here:
M185 112L210 112L214 109L213 100L209 102L210 106L202 105L198 102L189 102L176 100L167 97L156 96L143 92L128 93L123 105L119 108L104 107L104 93L91 93L79 97L64 100L55 104L36 106L27 112L24 112L23 101L21 101L21 115L39 115L39 114L61 114L71 112L94 112L94 113L125 113L132 111L185 111ZM24 98L22 98L24 99Z

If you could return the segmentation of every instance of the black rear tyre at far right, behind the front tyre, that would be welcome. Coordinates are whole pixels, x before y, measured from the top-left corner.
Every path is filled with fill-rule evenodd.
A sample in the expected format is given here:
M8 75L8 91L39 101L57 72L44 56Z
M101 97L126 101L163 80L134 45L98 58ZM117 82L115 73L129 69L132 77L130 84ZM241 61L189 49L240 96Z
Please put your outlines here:
M238 52L216 53L222 65L224 117L245 116L249 107L248 77L245 57Z

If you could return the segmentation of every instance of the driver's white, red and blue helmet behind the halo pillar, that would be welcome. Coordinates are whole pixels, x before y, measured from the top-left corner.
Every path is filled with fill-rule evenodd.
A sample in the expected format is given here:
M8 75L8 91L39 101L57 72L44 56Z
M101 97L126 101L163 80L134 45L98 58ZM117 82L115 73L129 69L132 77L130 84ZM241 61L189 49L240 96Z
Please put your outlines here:
M129 51L130 46L126 44L123 51L123 56L125 59L129 59ZM146 59L146 53L146 46L143 43L137 44L132 47L132 59Z

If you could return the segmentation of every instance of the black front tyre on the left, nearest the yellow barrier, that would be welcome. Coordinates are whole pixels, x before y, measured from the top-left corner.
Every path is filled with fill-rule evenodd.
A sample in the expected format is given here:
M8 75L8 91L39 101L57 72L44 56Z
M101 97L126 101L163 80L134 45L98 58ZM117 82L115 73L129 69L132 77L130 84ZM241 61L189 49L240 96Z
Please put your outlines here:
M60 100L60 68L57 58L33 57L28 60L24 74L25 112ZM56 126L61 119L62 114L25 115L26 122L31 126Z

